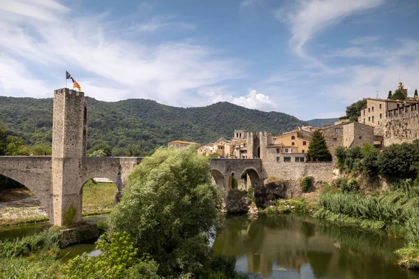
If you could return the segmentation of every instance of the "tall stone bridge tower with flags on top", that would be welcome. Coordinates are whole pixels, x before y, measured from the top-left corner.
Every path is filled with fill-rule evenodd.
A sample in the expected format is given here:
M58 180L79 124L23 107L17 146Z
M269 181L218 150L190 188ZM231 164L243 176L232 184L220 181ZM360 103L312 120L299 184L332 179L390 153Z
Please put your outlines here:
M52 222L82 220L82 158L87 146L87 98L71 89L54 91L52 126Z

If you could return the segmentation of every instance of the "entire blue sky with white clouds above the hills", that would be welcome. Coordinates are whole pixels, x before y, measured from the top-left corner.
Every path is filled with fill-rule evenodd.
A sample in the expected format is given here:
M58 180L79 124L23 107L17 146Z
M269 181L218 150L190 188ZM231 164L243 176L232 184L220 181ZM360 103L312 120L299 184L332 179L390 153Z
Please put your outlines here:
M0 0L0 94L196 107L299 119L419 89L417 0Z

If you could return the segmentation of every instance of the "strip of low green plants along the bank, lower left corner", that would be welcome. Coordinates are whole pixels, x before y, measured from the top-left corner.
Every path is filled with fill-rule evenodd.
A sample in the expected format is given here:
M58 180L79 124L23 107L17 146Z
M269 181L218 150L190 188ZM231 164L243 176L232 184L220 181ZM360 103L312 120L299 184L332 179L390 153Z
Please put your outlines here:
M0 241L0 258L29 256L35 252L54 252L59 254L61 233L47 229L33 236L23 236L22 239Z

